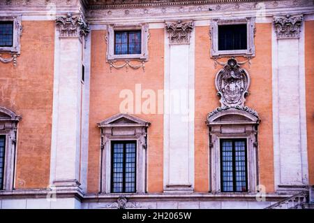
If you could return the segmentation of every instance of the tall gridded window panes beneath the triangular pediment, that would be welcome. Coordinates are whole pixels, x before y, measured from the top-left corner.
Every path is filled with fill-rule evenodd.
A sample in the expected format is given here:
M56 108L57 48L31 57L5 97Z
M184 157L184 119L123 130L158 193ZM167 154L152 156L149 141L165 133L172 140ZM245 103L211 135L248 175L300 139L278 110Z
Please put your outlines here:
M112 193L135 193L136 141L112 142Z

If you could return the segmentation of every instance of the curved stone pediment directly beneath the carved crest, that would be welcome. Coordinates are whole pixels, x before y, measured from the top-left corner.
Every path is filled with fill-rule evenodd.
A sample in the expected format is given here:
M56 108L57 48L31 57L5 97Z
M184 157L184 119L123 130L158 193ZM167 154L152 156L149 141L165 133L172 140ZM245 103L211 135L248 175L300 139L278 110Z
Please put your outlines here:
M246 107L247 108L247 107ZM216 110L207 117L207 124L259 124L257 113L249 108L246 110L229 108Z

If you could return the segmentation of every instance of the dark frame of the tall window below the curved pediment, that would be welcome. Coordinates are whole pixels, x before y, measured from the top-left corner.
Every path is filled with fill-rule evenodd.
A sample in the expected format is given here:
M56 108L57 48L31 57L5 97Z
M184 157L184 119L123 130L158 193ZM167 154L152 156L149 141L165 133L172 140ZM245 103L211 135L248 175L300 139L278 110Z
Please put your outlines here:
M227 192L223 190L223 141L232 141L232 192ZM235 142L243 142L245 143L245 163L246 163L246 190L238 192L236 189L236 169L235 169ZM220 188L223 193L243 193L248 192L248 146L247 146L246 138L220 138Z

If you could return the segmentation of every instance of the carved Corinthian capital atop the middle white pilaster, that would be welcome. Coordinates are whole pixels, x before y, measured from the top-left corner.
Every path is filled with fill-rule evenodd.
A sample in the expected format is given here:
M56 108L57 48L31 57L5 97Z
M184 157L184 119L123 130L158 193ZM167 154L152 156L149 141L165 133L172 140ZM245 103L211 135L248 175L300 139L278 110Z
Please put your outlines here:
M170 44L189 44L190 32L193 30L194 24L188 22L166 22L165 25L169 33Z

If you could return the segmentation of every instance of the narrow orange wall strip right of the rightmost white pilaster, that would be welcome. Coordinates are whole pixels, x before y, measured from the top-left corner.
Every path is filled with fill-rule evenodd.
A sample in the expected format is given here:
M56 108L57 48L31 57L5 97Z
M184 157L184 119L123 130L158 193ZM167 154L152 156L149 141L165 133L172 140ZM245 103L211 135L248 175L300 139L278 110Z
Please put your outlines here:
M314 21L305 22L306 128L309 184L314 185Z

